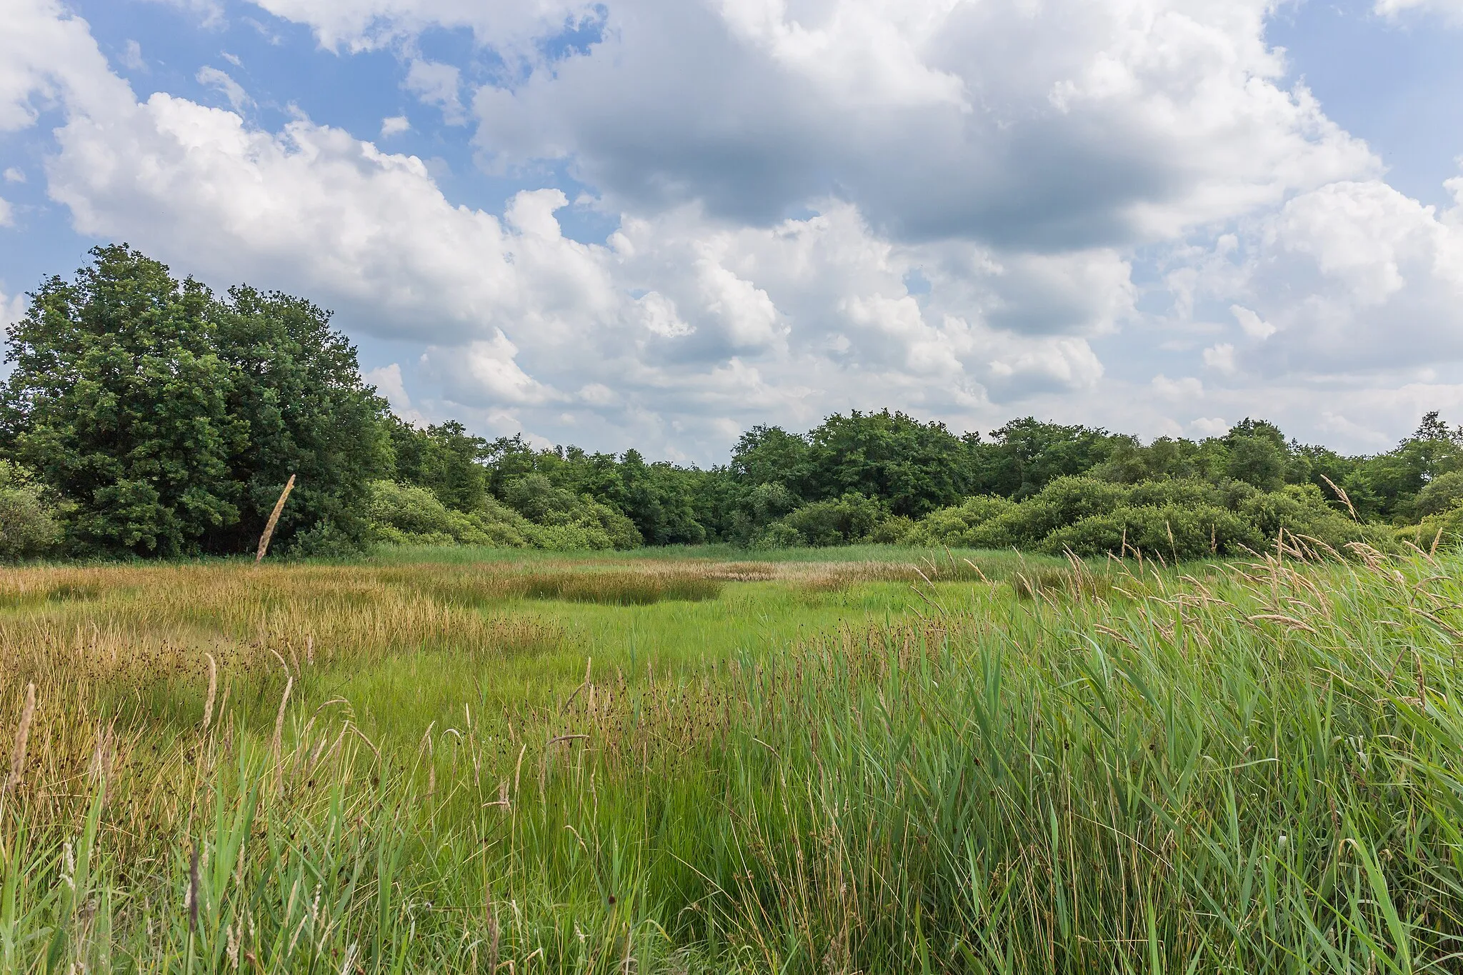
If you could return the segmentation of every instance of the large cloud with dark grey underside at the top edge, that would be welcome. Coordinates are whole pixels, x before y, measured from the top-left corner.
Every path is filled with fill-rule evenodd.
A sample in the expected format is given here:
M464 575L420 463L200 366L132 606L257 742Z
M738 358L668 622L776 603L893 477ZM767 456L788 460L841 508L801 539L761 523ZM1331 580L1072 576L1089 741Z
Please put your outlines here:
M638 210L837 193L906 240L1127 246L1377 171L1280 86L1268 9L622 0L585 53L483 88L478 140Z

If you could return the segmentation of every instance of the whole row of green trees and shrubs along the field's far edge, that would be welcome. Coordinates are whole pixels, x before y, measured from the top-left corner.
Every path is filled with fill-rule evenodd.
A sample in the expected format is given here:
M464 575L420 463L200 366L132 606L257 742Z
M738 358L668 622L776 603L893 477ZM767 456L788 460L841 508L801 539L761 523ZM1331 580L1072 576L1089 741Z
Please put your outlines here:
M6 358L12 558L250 551L291 474L275 544L301 555L859 541L1096 553L1141 538L1179 557L1285 526L1328 544L1463 528L1463 428L1435 412L1393 450L1347 456L1261 420L1144 444L1031 417L982 434L851 411L808 433L752 427L711 469L418 428L363 380L328 311L243 285L214 294L126 244L42 282Z

